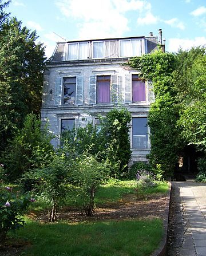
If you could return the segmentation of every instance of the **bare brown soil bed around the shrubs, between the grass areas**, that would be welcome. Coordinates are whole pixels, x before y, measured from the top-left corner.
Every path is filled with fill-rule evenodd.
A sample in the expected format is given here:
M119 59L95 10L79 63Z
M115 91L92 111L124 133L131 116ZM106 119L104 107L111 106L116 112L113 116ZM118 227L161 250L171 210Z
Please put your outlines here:
M58 214L58 220L69 222L97 221L97 220L128 220L163 218L167 195L149 195L140 199L136 195L125 195L116 203L107 203L94 210L93 216L88 217L74 208L63 208ZM46 212L35 214L30 212L29 217L39 222L47 222ZM1 256L19 256L23 247L28 246L24 241L7 239L5 246L0 247Z

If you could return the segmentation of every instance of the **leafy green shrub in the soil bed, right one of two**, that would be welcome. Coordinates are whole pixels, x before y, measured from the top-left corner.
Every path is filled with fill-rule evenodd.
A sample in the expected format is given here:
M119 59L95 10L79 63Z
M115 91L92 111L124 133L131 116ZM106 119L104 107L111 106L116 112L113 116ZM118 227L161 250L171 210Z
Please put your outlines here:
M97 156L86 153L77 157L72 183L78 186L77 192L82 202L82 210L87 216L92 216L97 188L105 183L109 174L108 166L104 162L99 162Z

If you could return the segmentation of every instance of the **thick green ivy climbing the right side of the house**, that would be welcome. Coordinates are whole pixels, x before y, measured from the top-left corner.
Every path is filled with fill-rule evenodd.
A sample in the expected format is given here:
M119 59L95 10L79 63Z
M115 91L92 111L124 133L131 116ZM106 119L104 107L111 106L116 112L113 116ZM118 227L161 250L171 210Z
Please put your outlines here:
M175 126L179 105L175 99L176 88L172 84L172 72L176 68L175 55L158 50L133 58L129 65L140 69L142 78L153 82L156 100L148 116L151 140L149 162L153 169L156 164L161 164L165 176L171 175L181 148L179 131Z

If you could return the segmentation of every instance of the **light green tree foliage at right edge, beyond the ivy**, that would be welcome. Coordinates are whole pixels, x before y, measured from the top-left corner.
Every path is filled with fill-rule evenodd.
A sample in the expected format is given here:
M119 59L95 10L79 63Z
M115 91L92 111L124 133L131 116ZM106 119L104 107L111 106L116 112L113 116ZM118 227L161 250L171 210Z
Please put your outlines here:
M177 127L189 144L206 150L206 56L204 48L178 54L180 68L174 80L181 100L181 116ZM181 84L180 84L181 83ZM181 85L181 86L180 86Z

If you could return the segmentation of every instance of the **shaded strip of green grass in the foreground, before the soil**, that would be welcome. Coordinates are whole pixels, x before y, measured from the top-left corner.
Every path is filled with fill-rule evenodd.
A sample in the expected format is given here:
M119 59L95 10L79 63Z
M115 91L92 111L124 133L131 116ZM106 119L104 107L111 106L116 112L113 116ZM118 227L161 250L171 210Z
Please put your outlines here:
M27 256L146 256L163 235L160 219L41 224L27 220L13 236L29 240Z

